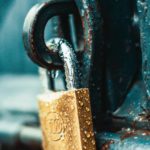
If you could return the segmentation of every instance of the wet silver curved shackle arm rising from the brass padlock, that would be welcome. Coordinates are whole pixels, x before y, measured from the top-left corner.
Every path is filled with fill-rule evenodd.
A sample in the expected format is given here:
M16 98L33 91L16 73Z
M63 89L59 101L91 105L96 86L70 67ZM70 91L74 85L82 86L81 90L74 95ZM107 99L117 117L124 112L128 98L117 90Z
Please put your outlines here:
M50 49L58 52L60 59L63 62L67 89L75 89L80 87L79 67L76 55L72 46L62 38L52 38L47 42Z

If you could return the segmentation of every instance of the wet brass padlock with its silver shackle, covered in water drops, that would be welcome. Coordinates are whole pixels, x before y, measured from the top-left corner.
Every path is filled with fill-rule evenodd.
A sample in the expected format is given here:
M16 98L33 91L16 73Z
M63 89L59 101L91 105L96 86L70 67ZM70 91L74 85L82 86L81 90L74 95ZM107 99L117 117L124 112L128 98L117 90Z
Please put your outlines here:
M39 96L44 150L96 150L89 91L79 88L73 50L58 38L51 40L49 47L58 49L68 90Z

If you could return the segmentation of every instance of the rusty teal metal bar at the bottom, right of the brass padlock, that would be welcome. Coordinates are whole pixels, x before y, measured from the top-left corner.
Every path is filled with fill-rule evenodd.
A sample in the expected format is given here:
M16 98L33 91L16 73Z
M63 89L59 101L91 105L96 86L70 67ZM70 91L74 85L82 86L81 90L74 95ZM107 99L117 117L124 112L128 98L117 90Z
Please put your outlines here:
M98 150L149 150L150 132L146 130L122 130L117 133L97 134Z

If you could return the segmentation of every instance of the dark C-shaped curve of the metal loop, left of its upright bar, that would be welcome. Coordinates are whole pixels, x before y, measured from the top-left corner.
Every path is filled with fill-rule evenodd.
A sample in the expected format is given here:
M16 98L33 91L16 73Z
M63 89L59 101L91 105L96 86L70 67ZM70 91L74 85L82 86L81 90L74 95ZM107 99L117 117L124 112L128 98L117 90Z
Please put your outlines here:
M72 0L55 0L35 5L27 14L23 27L23 41L29 57L47 69L62 68L58 53L49 49L44 40L44 29L49 19L77 12Z

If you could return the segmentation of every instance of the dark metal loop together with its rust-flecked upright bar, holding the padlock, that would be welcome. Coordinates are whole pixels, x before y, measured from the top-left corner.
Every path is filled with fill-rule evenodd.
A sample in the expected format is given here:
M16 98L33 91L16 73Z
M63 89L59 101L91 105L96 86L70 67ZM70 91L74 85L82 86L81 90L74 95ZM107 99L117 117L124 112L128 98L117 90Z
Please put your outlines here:
M46 23L54 16L61 16L66 14L79 14L81 19L81 26L84 44L82 52L83 56L82 66L82 87L89 87L89 78L91 73L91 66L95 60L96 52L101 56L101 27L102 19L99 15L99 7L94 1L86 0L85 3L81 0L51 0L42 4L35 5L28 13L24 28L23 40L29 57L41 67L51 69L62 68L61 60L57 53L53 50L49 52L49 48L44 41L44 29ZM78 15L77 15L78 16ZM94 54L94 56L93 56ZM101 57L100 60L103 60ZM94 62L95 63L95 62ZM101 63L102 64L102 63ZM101 70L100 66L100 70ZM93 74L96 73L92 70ZM99 71L101 72L101 71ZM98 76L101 79L101 73Z

